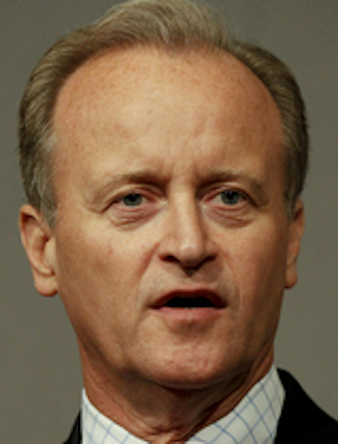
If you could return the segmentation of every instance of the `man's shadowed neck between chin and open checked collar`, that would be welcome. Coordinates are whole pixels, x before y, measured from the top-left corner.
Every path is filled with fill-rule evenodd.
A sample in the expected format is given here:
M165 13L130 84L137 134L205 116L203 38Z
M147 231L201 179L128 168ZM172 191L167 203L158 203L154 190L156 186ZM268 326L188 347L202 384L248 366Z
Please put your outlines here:
M102 376L81 352L91 403L133 435L153 444L184 443L227 415L270 369L272 350L235 377L199 389L175 389L125 374Z

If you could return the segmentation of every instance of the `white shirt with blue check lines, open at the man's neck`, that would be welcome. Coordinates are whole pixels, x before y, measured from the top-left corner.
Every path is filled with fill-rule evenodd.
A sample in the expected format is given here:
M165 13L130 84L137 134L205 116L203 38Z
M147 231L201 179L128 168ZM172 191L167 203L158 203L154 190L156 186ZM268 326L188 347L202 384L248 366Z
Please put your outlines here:
M285 392L273 366L226 416L208 425L188 444L273 444ZM146 444L100 413L83 391L83 444Z

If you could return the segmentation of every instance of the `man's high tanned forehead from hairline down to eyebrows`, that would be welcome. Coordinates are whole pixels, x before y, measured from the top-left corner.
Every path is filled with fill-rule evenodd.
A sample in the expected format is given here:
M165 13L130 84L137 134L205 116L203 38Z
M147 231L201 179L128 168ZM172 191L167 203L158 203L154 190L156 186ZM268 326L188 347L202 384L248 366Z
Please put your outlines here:
M131 48L93 58L65 82L53 123L56 153L69 165L87 156L104 167L120 155L129 166L129 154L170 170L182 153L195 168L231 145L237 158L282 146L270 93L226 52Z

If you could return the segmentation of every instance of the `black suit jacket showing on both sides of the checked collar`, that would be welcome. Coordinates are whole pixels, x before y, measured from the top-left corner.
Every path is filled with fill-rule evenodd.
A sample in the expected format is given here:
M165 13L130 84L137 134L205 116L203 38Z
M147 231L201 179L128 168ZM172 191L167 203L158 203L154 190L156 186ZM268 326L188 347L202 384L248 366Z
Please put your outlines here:
M338 421L323 412L298 382L278 370L286 397L279 419L275 444L338 444ZM81 443L80 415L64 444Z

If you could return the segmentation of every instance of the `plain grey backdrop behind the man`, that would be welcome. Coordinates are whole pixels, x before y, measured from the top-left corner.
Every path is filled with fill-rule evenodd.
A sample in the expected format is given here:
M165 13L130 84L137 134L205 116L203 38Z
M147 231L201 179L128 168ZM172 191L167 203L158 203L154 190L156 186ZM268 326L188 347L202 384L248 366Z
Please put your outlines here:
M275 52L301 85L312 166L299 283L286 293L276 360L338 417L338 1L209 1L235 34ZM33 65L54 40L94 20L111 0L1 0L0 220L1 418L4 444L65 439L79 407L76 338L58 297L40 297L17 231L24 202L16 161L16 115Z

